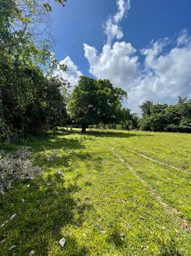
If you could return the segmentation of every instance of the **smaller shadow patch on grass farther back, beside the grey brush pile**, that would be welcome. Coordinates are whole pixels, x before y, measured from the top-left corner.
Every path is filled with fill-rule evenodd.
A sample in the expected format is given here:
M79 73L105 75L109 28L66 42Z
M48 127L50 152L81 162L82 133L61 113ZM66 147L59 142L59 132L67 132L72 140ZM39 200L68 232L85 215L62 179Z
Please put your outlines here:
M91 157L88 153L76 151L85 148L79 139L68 139L64 137L65 135L68 134L59 133L59 136L47 134L46 136L32 137L25 143L20 142L20 145L29 147L29 151L32 151L33 163L43 167L43 170L53 167L69 168L76 159L83 161Z

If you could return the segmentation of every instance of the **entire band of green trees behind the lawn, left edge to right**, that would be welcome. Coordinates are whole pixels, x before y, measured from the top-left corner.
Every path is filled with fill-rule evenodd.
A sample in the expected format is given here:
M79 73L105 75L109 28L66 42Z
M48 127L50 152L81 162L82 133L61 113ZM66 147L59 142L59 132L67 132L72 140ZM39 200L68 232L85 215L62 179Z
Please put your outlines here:
M55 0L64 4L64 0ZM50 5L45 1L0 0L0 141L57 126L89 125L123 130L191 132L191 101L141 105L142 118L122 107L124 90L109 80L81 76L71 95L67 72L52 54ZM44 29L43 29L44 28Z

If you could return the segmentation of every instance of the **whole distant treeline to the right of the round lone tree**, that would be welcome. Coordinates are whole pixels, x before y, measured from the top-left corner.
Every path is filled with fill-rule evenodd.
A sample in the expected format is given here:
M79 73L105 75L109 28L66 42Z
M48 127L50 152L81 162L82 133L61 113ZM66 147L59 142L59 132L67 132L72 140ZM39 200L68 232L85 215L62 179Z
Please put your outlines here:
M99 123L90 125L89 128L191 133L191 100L187 97L178 97L178 102L174 105L146 101L140 108L141 118L136 113L131 113L129 108L122 108L120 122Z

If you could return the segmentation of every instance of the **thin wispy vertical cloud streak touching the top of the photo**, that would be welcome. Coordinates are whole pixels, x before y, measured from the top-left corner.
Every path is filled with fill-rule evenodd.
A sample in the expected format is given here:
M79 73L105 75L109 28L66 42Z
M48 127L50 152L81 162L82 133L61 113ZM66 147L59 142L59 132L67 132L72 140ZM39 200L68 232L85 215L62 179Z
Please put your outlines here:
M117 0L117 13L109 17L105 24L105 34L108 37L108 43L111 43L115 37L121 39L123 31L120 27L120 21L127 16L130 9L130 0Z

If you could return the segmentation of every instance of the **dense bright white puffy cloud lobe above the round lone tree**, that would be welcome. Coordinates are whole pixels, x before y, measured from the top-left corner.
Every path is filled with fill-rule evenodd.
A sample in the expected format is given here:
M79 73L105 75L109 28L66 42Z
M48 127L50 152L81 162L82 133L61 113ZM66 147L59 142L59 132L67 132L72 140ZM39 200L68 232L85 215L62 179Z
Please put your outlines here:
M101 54L92 46L83 46L89 61L89 72L97 78L109 79L121 88L126 88L128 84L133 86L139 78L136 49L130 43L115 42L113 46L106 44Z

